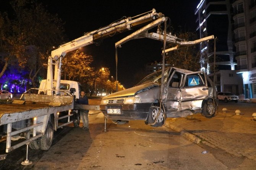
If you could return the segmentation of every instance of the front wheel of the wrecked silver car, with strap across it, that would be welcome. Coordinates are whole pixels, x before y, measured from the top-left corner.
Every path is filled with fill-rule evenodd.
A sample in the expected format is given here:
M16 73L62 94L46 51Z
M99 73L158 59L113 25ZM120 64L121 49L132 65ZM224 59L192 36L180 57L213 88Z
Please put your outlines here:
M153 106L153 107L152 107ZM147 123L154 123L157 117L157 114L159 112L159 104L158 103L153 103L149 110L149 114L147 116ZM156 106L156 107L154 107ZM157 119L156 124L151 125L152 127L161 127L162 125L164 125L164 111L163 109L161 109L160 115Z

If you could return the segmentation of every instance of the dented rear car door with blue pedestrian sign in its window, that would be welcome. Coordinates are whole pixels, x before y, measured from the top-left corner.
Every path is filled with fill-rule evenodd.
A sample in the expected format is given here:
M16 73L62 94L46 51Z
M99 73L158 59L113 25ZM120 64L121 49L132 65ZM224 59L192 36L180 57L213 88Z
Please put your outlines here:
M208 95L204 72L188 74L181 89L181 109L200 109L203 99Z

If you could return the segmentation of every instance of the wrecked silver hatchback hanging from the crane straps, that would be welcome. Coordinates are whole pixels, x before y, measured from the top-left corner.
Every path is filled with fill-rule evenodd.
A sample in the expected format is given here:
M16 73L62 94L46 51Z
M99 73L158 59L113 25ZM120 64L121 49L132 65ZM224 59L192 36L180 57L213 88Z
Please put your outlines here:
M168 67L145 77L135 87L102 98L100 110L115 123L144 120L153 127L164 125L166 117L186 117L200 112L214 117L217 91L203 71ZM162 94L160 94L162 91Z

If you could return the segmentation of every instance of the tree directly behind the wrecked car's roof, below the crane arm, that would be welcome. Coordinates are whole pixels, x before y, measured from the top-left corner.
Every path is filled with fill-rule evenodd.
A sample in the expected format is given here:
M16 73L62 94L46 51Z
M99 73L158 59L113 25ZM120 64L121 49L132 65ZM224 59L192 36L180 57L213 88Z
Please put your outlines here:
M184 41L196 40L197 35L194 32L179 33L177 35ZM167 48L171 48L174 45L169 45ZM200 64L200 51L194 45L188 47L181 47L175 51L170 51L166 56L166 63L173 67L186 69L190 71L198 71L201 68Z

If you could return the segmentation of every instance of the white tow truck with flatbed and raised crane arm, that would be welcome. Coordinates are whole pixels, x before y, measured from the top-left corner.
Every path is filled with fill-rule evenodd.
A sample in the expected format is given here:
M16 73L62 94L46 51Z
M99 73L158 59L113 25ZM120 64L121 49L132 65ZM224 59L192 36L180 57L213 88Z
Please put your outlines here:
M41 84L39 89L26 91L19 100L4 101L0 104L0 126L3 131L2 133L6 134L6 152L8 153L26 144L26 160L21 164L29 165L32 162L28 160L28 147L31 149L48 150L52 144L54 130L56 131L58 128L62 128L70 123L73 123L75 127L79 125L79 109L100 110L99 106L75 104L75 99L79 98L81 91L78 82L71 82L77 83L78 87L70 87L65 90L61 88L63 84L63 80L61 80L61 66L62 59L66 53L96 43L98 40L112 37L113 34L119 34L143 25L146 26L136 30L133 34L117 43L116 48L128 40L141 37L167 41L177 45L194 44L183 42L175 35L167 34L166 31L157 31L157 33L147 32L147 30L159 26L163 22L165 22L166 27L166 21L167 18L164 14L157 13L153 8L146 13L123 18L120 21L112 22L108 26L87 32L82 37L60 45L56 50L53 50L48 57L47 79L42 81L44 85ZM209 39L211 38L209 37ZM200 41L204 40L199 40L196 43ZM63 112L66 115L60 116ZM60 123L59 120L64 118L67 118L67 122ZM73 120L71 120L72 118ZM105 128L106 120L105 118ZM11 145L11 138L16 135L25 136L25 139L15 145ZM5 159L6 156L7 154L0 155L0 159Z

